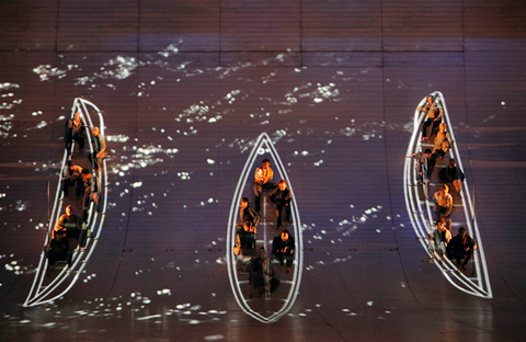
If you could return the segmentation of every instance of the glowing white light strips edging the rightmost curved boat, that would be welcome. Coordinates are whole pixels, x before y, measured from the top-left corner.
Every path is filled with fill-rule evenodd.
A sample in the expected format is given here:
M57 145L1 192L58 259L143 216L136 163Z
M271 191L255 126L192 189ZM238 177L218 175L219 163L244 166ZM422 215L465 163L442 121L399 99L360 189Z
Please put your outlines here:
M447 124L447 132L449 133L450 138L455 141L455 135L453 133L453 125L449 121L449 114L447 112L446 101L444 95L435 91L432 93L435 96L435 101L438 101L443 109L444 115L443 121ZM427 98L427 96L426 96ZM424 190L425 198L424 201L421 200L419 194L419 186L418 186L418 175L416 175L416 168L415 168L415 160L411 158L411 155L414 152L420 152L421 148L421 125L425 119L425 113L420 112L420 107L425 105L426 98L424 98L414 112L414 128L413 134L411 135L411 139L409 142L407 158L404 163L403 170L403 191L404 191L404 198L405 198L405 207L408 209L409 218L411 220L411 225L413 226L414 232L419 238L420 243L431 256L430 252L430 240L427 235L433 230L433 214L432 214L432 204L428 201L428 194ZM460 153L458 151L457 144L453 144L453 147L449 149L449 157L455 158L457 161L457 167L464 172L462 161L460 159ZM425 189L425 185L424 185ZM488 273L488 266L485 262L484 249L482 246L482 239L480 237L479 227L477 224L477 219L474 217L473 206L471 203L471 196L469 193L468 182L462 182L462 192L460 193L460 197L462 201L462 208L466 218L466 226L468 233L477 241L477 249L473 252L473 263L476 267L477 276L474 278L466 276L464 273L456 272L456 266L445 258L444 265L441 265L436 260L436 266L442 271L444 276L456 288L483 298L492 298L493 294L491 290L490 277ZM456 214L460 214L459 210ZM459 220L462 221L462 220Z

